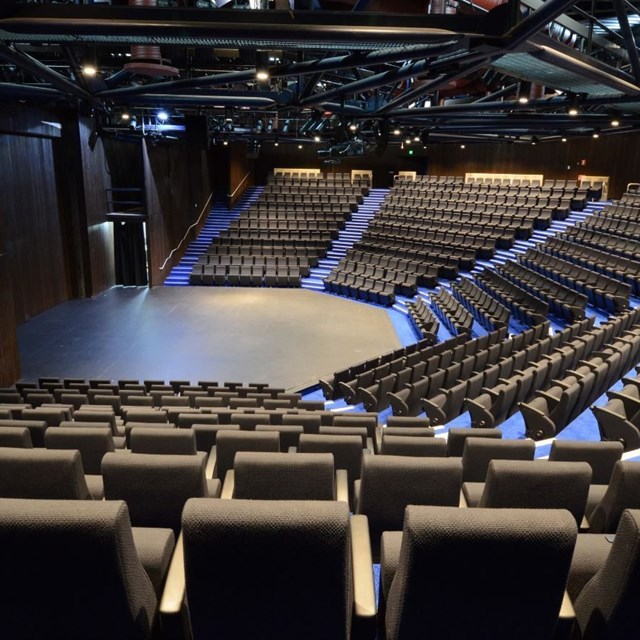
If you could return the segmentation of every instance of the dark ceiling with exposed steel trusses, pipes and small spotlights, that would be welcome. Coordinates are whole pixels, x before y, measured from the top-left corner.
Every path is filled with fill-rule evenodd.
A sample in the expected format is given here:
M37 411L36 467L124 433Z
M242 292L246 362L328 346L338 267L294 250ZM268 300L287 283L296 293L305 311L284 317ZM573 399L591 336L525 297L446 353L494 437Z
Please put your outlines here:
M640 127L638 1L79 2L2 2L0 101L327 159Z

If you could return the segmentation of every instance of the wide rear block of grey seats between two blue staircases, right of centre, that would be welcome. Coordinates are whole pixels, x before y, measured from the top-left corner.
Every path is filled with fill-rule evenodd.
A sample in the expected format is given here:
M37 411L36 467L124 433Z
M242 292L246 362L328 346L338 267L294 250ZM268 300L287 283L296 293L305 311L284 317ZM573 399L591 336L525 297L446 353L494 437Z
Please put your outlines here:
M328 291L377 301L371 280L393 284L396 295L413 296L416 287L455 279L476 259L490 259L496 247L510 248L534 228L564 219L576 200L576 185L541 187L529 181L463 183L453 176L398 177L362 239L325 279ZM585 192L586 193L586 192ZM389 264L393 261L392 264ZM371 265L368 283L363 271ZM384 287L380 284L378 288ZM392 304L390 295L383 304Z

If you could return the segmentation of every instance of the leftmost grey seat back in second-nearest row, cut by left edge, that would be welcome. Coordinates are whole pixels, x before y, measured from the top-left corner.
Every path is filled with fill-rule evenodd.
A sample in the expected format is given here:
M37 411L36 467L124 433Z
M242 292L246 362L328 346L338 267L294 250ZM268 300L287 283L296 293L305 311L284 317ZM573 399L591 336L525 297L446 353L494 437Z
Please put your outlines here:
M0 449L0 497L91 500L80 452Z

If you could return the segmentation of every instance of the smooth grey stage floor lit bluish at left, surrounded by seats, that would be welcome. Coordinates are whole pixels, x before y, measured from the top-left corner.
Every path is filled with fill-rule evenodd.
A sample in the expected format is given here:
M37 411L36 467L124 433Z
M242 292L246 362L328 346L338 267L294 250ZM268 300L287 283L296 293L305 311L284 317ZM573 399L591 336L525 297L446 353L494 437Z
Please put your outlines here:
M18 329L22 378L265 381L300 388L400 346L386 311L303 289L115 287Z

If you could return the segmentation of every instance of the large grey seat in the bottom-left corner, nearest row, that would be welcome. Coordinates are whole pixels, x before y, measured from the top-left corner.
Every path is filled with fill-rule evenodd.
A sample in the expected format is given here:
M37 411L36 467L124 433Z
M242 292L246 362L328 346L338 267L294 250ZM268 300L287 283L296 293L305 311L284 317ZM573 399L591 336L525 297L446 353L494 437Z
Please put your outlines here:
M0 634L144 640L157 600L124 502L0 500Z

